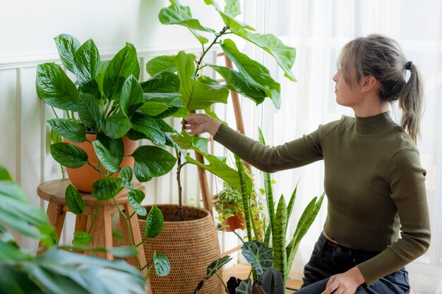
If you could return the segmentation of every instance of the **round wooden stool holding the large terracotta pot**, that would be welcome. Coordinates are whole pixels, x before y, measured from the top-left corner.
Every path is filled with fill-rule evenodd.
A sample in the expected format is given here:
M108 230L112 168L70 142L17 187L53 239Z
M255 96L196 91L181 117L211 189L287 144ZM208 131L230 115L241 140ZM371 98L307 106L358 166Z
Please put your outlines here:
M52 226L54 226L56 234L59 236L59 238L61 235L61 229L63 228L66 212L70 212L68 206L66 205L66 199L64 198L64 193L70 183L71 181L68 179L49 180L48 182L40 184L37 188L37 195L40 196L40 198L49 202L49 205L47 207L47 216ZM145 192L145 188L143 185L139 183L134 185L136 189ZM80 192L80 195L81 197L83 197L83 201L85 202L85 212L95 213L98 200L92 197L92 195L89 193ZM115 196L115 200L117 200L117 203L121 207L121 210L124 212L124 214L126 214L126 216L130 216L133 213L133 209L129 204L126 189L119 192L118 195ZM100 201L97 218L95 219L92 231L90 231L90 234L94 236L94 239L90 243L91 247L113 247L111 214L115 212L119 213L119 209L115 205L114 200L111 199ZM87 230L90 228L91 221L92 216L78 214L76 216L75 231L87 232ZM124 243L131 246L128 226L124 218L122 218L121 216L119 218L119 223L123 231ZM142 239L140 226L138 225L138 219L136 215L131 217L131 219L129 220L129 226L131 227L133 244L136 245L141 243ZM39 244L39 247L41 246L42 243ZM143 246L138 246L136 250L138 251L138 260L140 262L140 266L141 268L143 268L146 264ZM114 256L109 252L96 252L95 254L109 260L114 259ZM132 264L133 266L138 268L136 257L130 257L129 264ZM141 271L141 274L145 276L145 274L147 274L147 268L143 269L143 271Z

